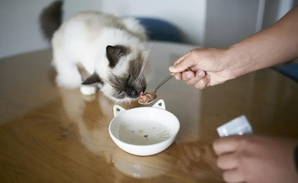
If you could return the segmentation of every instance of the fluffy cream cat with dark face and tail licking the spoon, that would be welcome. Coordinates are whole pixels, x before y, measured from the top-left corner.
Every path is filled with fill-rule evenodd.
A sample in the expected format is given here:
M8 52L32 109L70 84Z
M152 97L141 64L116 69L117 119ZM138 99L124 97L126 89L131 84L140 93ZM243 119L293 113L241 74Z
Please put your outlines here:
M42 33L53 49L56 84L80 87L83 95L100 88L114 101L139 98L150 70L145 28L136 19L96 11L79 12L62 23L62 8L63 1L54 1L39 16Z

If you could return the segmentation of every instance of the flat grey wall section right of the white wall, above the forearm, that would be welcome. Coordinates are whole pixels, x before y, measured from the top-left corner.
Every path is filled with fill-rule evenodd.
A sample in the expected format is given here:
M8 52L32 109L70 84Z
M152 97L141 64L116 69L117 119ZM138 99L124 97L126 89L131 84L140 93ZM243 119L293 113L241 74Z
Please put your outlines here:
M205 46L227 47L256 32L259 0L208 0Z

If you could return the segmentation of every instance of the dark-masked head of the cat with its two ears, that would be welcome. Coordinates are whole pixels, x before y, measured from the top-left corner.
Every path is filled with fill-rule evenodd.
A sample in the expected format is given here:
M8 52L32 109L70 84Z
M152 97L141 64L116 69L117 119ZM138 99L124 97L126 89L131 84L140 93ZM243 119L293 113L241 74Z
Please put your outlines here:
M145 73L148 56L139 49L123 45L107 46L108 69L105 78L96 70L83 84L98 84L105 95L115 101L137 99L146 90Z

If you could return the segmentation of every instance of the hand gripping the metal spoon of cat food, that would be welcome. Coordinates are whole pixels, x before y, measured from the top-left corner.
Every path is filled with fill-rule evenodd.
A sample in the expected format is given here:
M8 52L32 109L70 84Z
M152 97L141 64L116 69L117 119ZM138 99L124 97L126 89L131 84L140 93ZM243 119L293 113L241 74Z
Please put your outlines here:
M203 89L224 83L234 78L230 71L230 60L226 57L226 49L196 48L180 57L169 68L176 73L177 80L183 80L195 88Z

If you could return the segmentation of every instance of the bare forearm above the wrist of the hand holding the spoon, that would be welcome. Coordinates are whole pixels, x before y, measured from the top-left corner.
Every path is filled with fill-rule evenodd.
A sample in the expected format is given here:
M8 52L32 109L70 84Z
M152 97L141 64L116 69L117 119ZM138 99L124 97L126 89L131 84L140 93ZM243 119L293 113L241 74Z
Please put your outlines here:
M227 49L226 62L235 77L298 57L298 6L271 27Z

